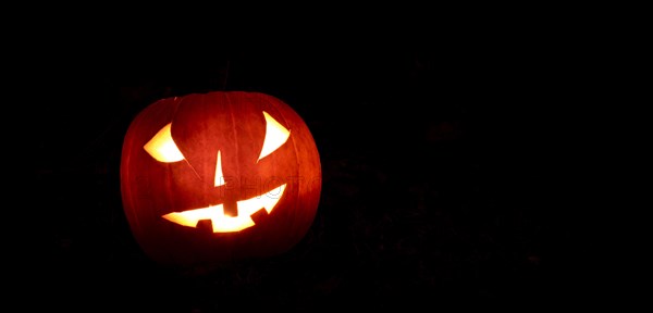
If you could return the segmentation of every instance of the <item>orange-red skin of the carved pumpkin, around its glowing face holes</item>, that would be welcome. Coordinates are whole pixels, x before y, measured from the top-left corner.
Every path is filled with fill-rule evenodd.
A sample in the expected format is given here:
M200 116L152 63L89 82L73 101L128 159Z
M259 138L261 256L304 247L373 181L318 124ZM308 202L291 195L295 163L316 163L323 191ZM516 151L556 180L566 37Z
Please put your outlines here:
M259 158L267 125L274 123L263 112L289 136ZM144 147L169 124L183 160L159 162ZM213 91L161 99L136 115L123 141L120 181L127 222L147 255L164 265L220 264L295 246L317 213L321 165L311 133L289 105L259 92ZM273 208L242 212L245 199L272 198L267 206ZM215 210L254 223L215 230L230 220L215 217ZM195 216L183 225L163 217L200 211L214 218Z

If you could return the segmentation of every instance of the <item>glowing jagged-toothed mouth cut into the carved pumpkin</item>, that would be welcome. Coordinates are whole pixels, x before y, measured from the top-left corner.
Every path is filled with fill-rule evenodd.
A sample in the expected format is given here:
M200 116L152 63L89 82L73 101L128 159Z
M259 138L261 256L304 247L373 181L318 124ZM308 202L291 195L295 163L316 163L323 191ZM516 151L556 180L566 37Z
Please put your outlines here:
M254 220L251 220L251 214L262 209L270 214L283 196L285 187L286 184L283 184L272 189L275 191L274 193L270 190L266 193L237 201L236 206L238 214L236 216L225 215L224 205L218 204L182 212L172 212L162 217L172 223L193 228L197 227L199 221L210 220L213 233L239 231L255 225Z

